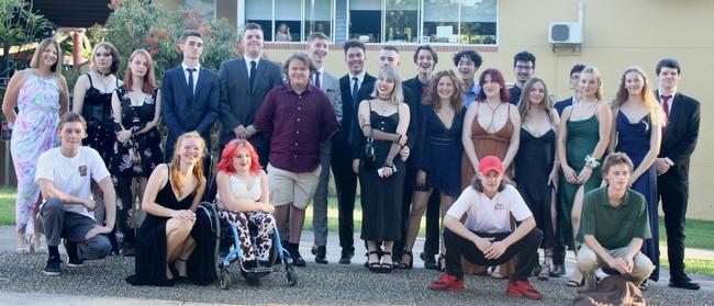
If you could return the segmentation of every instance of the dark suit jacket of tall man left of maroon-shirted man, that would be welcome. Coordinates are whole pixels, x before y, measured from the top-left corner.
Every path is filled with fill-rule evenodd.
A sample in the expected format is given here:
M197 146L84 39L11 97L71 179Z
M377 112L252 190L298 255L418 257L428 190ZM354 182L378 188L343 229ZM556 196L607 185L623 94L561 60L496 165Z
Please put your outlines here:
M221 63L219 79L221 80L220 116L223 125L220 143L225 145L235 138L233 128L239 125L247 127L253 124L265 95L283 82L280 66L265 58L260 58L256 67L253 88L249 88L250 79L245 58ZM255 136L261 138L259 132Z

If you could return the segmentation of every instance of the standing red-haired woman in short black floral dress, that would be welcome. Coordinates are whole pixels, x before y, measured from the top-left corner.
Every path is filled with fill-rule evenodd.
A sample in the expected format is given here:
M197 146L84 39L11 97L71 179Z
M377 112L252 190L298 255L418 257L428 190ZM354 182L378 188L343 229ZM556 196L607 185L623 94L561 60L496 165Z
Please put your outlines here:
M157 128L161 94L152 56L145 49L130 56L124 84L112 94L112 112L116 141L109 171L116 178L116 240L122 243L122 254L133 256L134 229L141 223L134 205L143 199L148 175L164 162Z

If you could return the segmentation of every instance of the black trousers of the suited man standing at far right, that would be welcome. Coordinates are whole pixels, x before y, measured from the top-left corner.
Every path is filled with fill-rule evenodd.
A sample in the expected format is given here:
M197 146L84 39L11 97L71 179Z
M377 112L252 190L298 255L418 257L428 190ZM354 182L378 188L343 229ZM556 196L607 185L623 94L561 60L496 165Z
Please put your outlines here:
M670 173L671 172L671 173ZM669 274L684 274L684 223L689 201L689 180L673 169L657 178L657 193L662 201Z

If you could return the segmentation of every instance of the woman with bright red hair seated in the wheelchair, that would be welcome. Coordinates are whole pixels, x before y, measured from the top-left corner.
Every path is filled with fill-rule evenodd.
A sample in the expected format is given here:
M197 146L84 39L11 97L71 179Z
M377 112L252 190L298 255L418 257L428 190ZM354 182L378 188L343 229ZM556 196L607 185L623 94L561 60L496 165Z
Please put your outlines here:
M217 168L215 182L219 194L215 199L219 215L238 229L243 267L253 269L258 263L270 265L275 207L270 204L268 177L260 169L258 154L247 140L233 139L225 145ZM255 252L248 223L258 227ZM245 277L249 284L259 285L260 280L255 273L246 273Z

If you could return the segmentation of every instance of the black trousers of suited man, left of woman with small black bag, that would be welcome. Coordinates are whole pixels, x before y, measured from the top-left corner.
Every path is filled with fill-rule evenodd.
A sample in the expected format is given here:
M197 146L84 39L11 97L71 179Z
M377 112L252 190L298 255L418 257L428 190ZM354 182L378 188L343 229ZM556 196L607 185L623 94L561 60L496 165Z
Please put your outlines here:
M335 177L337 192L339 247L344 250L355 249L355 194L357 174L352 169L353 151L344 140L335 139L332 147L332 172Z

